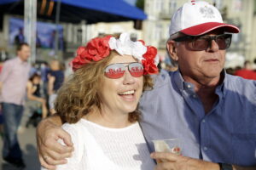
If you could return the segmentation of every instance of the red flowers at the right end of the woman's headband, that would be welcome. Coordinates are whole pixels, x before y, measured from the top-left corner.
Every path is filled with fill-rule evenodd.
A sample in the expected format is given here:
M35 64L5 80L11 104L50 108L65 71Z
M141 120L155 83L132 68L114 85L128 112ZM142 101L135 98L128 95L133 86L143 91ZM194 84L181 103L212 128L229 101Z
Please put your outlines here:
M154 59L157 55L157 49L153 46L147 46L147 52L143 54L143 67L144 67L144 75L147 74L157 74L158 68L155 65Z

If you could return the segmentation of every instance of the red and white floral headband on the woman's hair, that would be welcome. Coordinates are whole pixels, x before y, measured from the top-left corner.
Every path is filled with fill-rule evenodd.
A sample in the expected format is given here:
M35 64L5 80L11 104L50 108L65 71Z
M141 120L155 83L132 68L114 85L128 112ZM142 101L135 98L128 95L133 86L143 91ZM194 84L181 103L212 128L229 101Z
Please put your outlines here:
M104 59L110 54L110 50L115 50L120 55L132 55L138 59L143 64L144 75L158 73L157 49L153 46L145 46L143 40L132 42L128 33L122 33L119 39L112 36L96 37L91 39L86 46L79 47L77 56L72 61L73 71L91 61Z

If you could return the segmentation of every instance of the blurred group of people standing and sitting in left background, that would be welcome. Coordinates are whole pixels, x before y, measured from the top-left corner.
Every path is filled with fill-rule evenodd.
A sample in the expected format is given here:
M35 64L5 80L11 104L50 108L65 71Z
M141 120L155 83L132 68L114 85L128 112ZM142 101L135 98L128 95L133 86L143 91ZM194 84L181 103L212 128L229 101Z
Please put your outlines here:
M65 81L65 65L57 59L30 65L26 42L17 45L16 57L1 63L0 132L3 160L24 167L17 133L53 115L56 92ZM67 76L67 74L66 74Z

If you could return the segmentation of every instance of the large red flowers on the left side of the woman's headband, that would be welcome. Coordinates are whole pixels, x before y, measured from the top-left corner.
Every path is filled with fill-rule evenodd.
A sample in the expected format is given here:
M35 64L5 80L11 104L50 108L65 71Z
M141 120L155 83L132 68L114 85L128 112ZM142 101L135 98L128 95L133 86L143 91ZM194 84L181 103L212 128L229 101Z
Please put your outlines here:
M96 37L90 40L86 46L81 46L77 50L77 56L73 59L73 71L79 69L81 65L98 61L108 56L110 48L108 41L111 36Z

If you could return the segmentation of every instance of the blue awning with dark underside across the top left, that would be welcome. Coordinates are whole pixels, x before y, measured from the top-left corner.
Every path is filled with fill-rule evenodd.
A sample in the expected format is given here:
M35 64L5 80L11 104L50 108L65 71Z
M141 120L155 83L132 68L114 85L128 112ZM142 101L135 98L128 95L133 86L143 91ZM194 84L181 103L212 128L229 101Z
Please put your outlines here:
M51 15L38 14L39 19L55 20L56 2ZM49 3L49 0L47 1ZM40 2L38 1L38 5ZM0 14L24 14L24 0L1 0ZM87 24L125 20L146 20L147 15L123 0L61 0L60 20Z

